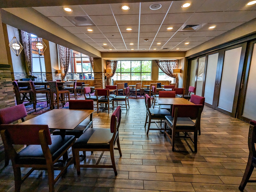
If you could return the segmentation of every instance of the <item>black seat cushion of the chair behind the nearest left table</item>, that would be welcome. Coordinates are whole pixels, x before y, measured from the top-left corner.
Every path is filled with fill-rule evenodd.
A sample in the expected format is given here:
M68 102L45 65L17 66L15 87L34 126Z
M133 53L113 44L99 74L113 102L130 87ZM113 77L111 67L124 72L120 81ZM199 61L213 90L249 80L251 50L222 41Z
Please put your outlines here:
M76 128L73 130L66 130L66 135L73 135L75 138L79 138L86 129L92 126L92 121L84 119ZM52 135L60 135L60 130L55 130Z

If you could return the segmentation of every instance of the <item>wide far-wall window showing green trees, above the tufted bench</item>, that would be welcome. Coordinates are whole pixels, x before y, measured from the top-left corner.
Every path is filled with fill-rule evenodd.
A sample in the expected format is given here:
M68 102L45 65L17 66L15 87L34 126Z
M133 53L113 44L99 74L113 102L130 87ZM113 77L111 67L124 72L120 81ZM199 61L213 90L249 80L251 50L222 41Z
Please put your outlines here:
M151 61L118 61L114 80L151 80Z

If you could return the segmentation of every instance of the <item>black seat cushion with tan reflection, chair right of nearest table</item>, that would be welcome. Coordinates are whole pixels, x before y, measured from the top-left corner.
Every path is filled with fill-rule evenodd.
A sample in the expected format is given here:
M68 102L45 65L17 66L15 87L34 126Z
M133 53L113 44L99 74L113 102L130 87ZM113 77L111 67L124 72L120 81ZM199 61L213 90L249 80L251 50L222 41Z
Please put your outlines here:
M109 149L113 133L110 129L89 128L75 142L75 149Z

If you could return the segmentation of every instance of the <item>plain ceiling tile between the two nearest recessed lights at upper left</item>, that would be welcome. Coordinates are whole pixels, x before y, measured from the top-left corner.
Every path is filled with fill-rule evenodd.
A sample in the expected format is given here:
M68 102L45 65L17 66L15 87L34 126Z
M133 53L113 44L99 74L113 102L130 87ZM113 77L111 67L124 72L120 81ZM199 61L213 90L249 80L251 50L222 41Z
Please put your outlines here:
M92 15L112 15L109 4L80 5L90 16Z

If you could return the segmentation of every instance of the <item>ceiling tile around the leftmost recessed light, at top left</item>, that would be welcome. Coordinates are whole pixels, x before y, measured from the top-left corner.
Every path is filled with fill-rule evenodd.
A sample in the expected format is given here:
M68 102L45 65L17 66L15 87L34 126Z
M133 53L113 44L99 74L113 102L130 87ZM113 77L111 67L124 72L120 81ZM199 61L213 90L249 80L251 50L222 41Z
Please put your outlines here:
M85 16L86 13L79 5L68 6L73 9L72 12L67 12L63 8L64 6L51 6L51 7L33 7L39 13L46 17L57 17L57 16Z

